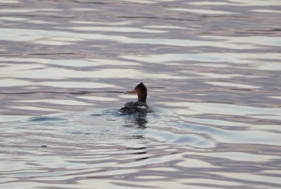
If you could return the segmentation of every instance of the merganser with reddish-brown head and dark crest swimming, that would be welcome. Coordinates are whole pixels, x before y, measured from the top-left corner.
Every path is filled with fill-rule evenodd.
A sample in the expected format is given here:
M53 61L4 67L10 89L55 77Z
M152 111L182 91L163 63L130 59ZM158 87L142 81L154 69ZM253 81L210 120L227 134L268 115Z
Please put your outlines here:
M148 113L151 112L149 105L147 104L148 90L144 83L139 83L134 90L127 91L128 94L137 94L136 102L127 102L119 109L121 113Z

